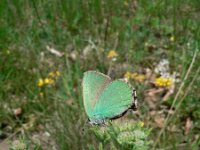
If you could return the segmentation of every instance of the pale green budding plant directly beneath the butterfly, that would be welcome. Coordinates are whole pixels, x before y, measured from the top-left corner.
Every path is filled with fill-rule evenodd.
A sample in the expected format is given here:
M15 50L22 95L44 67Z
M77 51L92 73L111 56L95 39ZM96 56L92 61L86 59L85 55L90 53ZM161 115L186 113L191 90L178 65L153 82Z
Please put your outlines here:
M148 139L150 129L143 125L143 122L109 122L104 127L91 127L90 131L95 134L99 149L147 150L151 143Z

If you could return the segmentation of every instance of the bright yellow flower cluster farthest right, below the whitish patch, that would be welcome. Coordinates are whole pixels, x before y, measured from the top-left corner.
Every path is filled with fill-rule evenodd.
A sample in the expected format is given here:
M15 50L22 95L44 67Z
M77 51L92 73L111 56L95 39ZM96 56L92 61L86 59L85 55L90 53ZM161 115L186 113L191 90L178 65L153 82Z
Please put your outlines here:
M169 87L172 85L172 83L172 78L159 77L155 80L155 85L157 87Z

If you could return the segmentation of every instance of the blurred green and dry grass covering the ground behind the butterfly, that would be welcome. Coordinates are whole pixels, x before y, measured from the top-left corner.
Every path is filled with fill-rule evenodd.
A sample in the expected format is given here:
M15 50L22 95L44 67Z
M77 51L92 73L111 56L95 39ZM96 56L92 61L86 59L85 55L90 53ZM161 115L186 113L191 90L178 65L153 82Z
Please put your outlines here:
M1 142L12 143L22 136L36 144L36 149L48 149L44 136L39 134L41 143L33 138L48 131L50 145L59 149L108 148L100 144L102 141L95 133L80 131L87 119L81 93L83 73L99 70L117 79L127 71L153 71L162 58L167 58L170 73L176 72L180 80L175 91L167 101L162 101L165 93L154 95L155 107L150 108L146 91L153 86L130 80L138 92L140 115L130 114L128 118L144 121L145 127L152 129L149 141L157 140L157 144L149 148L176 149L184 145L198 149L199 10L197 0L2 0ZM47 45L64 55L52 54ZM118 53L116 62L106 58L112 49ZM57 70L61 76L55 84L37 86L39 79ZM164 126L158 127L151 113L161 112L166 121L170 107L175 113ZM13 113L17 108L22 109L19 115ZM185 127L187 120L192 122L189 128Z

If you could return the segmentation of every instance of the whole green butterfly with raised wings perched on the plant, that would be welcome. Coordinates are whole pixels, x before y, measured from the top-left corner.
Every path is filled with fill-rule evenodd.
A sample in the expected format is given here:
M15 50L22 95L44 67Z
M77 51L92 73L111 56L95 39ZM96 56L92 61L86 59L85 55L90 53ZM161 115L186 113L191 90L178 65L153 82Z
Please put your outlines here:
M83 103L90 124L104 124L106 119L123 116L128 109L137 108L136 91L122 80L96 71L84 73Z

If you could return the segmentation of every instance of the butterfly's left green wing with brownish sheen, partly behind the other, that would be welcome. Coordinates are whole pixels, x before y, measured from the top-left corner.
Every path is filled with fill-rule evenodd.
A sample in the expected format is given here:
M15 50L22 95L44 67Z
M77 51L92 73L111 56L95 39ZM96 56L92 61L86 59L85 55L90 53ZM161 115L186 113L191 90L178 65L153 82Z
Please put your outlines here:
M89 117L93 116L97 100L110 82L110 77L102 73L96 71L87 71L84 73L82 81L83 103Z

